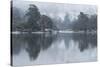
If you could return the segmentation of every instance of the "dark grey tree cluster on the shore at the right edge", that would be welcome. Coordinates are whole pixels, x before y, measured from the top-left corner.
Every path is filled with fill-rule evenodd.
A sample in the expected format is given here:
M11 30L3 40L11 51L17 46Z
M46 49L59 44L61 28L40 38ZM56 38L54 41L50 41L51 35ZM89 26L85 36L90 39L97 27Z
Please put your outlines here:
M75 31L96 31L97 29L97 15L88 15L80 12L78 19L72 24L72 29Z

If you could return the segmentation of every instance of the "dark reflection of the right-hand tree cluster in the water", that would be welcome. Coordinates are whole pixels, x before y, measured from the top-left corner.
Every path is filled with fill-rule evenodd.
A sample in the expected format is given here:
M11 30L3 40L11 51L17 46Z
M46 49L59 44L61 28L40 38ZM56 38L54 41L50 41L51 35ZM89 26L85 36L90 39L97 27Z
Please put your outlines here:
M73 40L79 44L79 49L83 52L89 47L93 48L97 46L97 35L96 34L73 34Z

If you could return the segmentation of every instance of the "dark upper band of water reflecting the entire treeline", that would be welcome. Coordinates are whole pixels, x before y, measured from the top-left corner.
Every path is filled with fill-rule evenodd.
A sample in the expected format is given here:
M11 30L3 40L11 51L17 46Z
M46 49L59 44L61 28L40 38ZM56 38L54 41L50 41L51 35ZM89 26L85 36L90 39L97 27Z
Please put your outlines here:
M69 50L69 48L71 47L71 41L74 42L74 46L78 46L80 52L84 52L84 50L90 48L96 48L97 46L96 34L77 34L77 33L76 34L65 33L56 35L51 33L18 34L18 35L13 34L12 35L13 62L16 62L14 61L14 57L18 56L19 53L21 53L21 51L23 50L25 50L28 53L30 61L35 61L37 60L41 51L47 51L48 48L50 48L54 44L59 46L60 43L55 43L55 42L61 42L62 40L64 41L65 45L62 47L65 47L66 51ZM17 58L19 58L19 56ZM17 65L19 63L16 62L15 64Z

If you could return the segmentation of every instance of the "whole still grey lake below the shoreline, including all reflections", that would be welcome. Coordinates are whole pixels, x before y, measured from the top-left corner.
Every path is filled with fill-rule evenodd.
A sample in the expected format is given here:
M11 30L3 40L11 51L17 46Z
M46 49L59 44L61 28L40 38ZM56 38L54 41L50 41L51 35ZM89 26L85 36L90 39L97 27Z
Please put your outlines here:
M97 60L97 35L85 33L12 34L14 66Z

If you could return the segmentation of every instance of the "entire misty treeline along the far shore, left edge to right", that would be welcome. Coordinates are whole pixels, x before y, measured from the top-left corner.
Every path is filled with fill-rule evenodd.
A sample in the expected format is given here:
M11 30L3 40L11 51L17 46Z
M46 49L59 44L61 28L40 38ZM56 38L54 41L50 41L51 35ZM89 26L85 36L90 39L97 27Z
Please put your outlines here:
M64 20L59 16L51 18L49 15L42 15L36 5L30 4L26 14L20 9L13 7L12 11L12 31L52 31L52 30L72 30L72 31L96 31L97 15L89 15L83 12L77 19L71 21L70 15L66 13Z

